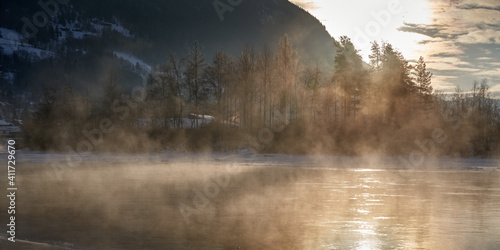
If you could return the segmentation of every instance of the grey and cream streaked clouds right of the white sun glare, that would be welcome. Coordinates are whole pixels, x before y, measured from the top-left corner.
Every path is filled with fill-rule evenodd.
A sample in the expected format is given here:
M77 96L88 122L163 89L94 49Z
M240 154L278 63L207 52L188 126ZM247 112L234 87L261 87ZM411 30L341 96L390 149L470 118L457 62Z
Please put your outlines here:
M436 90L468 89L477 78L500 82L500 1L427 0L428 23L404 23L398 30L425 35L419 41ZM500 86L495 85L500 92Z

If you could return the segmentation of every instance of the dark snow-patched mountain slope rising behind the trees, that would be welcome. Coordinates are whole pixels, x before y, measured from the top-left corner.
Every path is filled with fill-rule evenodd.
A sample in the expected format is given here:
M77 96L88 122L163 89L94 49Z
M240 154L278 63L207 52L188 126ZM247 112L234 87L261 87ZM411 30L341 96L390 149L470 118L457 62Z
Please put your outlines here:
M72 84L92 95L110 67L134 85L194 41L208 60L276 48L284 34L302 62L326 70L335 56L325 27L287 0L2 0L0 13L0 80L14 92Z

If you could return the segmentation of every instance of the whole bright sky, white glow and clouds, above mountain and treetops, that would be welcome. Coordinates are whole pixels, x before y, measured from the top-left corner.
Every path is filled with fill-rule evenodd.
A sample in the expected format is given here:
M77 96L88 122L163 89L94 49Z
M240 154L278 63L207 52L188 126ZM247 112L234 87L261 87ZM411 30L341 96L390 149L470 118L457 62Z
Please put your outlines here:
M433 87L472 88L486 78L500 98L500 0L290 0L334 37L351 38L368 60L371 41L387 41L405 58L423 56Z

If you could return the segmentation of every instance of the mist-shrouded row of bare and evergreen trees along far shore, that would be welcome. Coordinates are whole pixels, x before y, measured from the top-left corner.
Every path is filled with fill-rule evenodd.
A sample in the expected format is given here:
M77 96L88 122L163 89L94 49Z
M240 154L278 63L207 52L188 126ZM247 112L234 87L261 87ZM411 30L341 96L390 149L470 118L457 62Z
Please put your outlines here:
M474 83L470 91L444 94L433 90L432 74L422 57L410 63L391 44L373 42L370 62L365 63L348 37L340 37L333 46L337 52L331 72L301 63L286 35L275 50L245 46L236 56L219 51L207 59L198 42L182 57L168 52L147 76L143 102L117 123L122 132L109 135L110 141L140 135L132 141L147 141L157 149L238 150L248 147L249 135L284 126L262 151L404 154L440 129L447 139L432 154L500 154L500 108L485 80ZM65 124L74 123L67 126L73 126L74 133L68 134L75 138L64 143L75 143L82 127L116 116L112 109L117 100L127 103L132 98L121 82L120 73L110 71L101 82L98 102L81 94L70 98L60 90L48 91L52 96L44 95L29 120L47 128L61 124L50 115L58 107L51 98L59 95L55 99L66 104L79 100L86 108L69 113L81 114L81 122L60 115L68 120ZM199 115L215 121L201 126L200 119L193 119ZM25 129L25 134L32 147L44 141L33 129Z

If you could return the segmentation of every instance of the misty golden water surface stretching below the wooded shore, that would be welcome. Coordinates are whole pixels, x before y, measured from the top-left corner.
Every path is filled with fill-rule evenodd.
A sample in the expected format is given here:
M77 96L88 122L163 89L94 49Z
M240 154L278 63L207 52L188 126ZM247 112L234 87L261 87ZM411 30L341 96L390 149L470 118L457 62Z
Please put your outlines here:
M110 164L59 182L26 169L19 238L70 248L500 249L499 172Z

